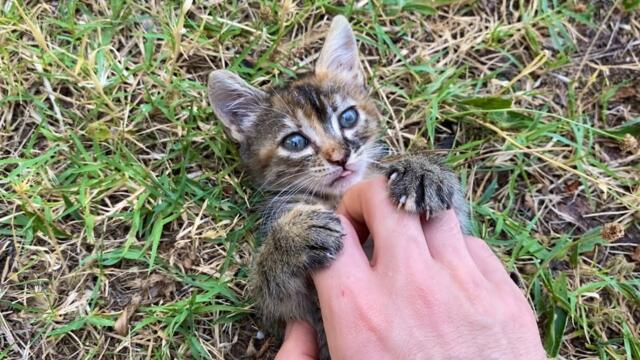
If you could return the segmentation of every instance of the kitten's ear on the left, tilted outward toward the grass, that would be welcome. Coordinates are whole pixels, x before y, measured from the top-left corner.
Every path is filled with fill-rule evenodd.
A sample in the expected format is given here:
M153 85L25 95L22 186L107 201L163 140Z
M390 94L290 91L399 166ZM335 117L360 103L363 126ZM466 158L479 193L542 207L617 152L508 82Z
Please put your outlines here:
M266 94L227 70L216 70L209 74L208 93L213 112L229 134L242 142L246 131L255 122L256 109Z

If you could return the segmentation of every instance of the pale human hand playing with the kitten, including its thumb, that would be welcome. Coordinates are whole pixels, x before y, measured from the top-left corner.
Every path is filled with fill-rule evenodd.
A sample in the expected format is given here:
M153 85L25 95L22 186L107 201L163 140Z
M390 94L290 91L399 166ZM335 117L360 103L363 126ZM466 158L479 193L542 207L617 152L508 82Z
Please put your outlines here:
M546 359L529 303L485 242L451 210L425 221L389 199L383 178L349 189L344 249L312 274L332 359ZM314 330L289 323L276 359L316 357Z

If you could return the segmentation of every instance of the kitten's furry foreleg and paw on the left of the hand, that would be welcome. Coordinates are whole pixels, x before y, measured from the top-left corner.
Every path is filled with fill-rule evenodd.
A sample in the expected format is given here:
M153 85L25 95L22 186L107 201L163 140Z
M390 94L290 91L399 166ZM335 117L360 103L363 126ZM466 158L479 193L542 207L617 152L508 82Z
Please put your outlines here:
M250 291L266 323L316 322L309 271L329 264L342 249L342 225L320 205L297 204L269 229L254 263Z

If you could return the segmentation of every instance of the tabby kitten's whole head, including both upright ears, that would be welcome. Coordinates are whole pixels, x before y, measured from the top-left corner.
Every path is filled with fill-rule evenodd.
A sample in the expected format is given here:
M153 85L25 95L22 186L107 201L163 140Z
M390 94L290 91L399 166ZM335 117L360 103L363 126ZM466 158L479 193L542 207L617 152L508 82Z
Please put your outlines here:
M265 188L340 194L375 157L378 113L342 16L331 23L312 74L263 91L217 70L209 75L209 101Z

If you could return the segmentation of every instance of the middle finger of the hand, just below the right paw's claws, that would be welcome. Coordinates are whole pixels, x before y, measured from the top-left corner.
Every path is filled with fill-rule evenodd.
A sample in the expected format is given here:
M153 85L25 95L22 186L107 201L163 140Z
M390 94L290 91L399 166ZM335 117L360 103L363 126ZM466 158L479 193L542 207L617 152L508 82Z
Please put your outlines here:
M474 267L460 223L453 210L443 211L423 221L422 229L431 256L440 263L456 267Z

